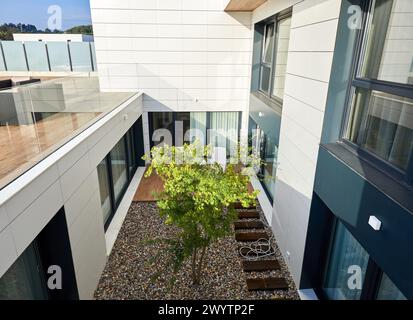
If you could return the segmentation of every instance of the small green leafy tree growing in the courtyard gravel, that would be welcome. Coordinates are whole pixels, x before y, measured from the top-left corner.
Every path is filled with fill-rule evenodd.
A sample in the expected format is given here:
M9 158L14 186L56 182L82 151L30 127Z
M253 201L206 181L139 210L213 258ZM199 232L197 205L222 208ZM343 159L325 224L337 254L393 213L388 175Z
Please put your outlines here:
M146 176L156 171L164 182L163 192L157 195L160 215L179 230L175 238L166 240L170 264L177 272L190 259L193 284L201 282L208 246L233 232L237 219L233 204L249 207L258 193L248 190L251 168L258 159L248 156L247 167L231 161L223 168L206 161L210 155L211 147L195 142L154 147L151 156L144 157L151 160Z

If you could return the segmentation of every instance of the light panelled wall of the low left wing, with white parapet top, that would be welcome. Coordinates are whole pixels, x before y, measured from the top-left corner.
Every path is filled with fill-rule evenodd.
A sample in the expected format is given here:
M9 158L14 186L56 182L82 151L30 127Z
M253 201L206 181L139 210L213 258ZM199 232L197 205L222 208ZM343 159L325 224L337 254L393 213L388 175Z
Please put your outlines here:
M141 114L137 94L0 191L0 277L64 206L79 297L93 297L107 257L96 167Z

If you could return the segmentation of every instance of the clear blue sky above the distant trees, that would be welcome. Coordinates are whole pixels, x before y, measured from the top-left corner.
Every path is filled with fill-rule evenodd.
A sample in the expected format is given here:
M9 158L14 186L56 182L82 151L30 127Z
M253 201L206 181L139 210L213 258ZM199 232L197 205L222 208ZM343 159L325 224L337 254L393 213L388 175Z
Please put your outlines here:
M149 0L148 0L149 1ZM10 0L2 1L0 24L33 24L38 29L47 28L51 5L62 8L63 30L82 24L91 24L89 0Z

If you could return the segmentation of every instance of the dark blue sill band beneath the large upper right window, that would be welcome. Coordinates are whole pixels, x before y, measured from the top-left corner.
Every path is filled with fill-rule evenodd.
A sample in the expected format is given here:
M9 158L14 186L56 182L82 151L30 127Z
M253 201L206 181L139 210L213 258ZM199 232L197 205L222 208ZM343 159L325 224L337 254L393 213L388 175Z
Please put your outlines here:
M413 190L410 186L378 169L361 158L356 151L349 150L343 143L324 144L320 147L329 151L399 205L413 212Z

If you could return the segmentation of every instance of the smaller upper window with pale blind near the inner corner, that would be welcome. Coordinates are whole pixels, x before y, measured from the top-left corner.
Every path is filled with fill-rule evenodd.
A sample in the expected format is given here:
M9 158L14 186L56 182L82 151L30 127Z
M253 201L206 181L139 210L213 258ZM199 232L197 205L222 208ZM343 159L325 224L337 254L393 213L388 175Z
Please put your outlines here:
M291 12L262 24L259 91L282 102L290 40Z

